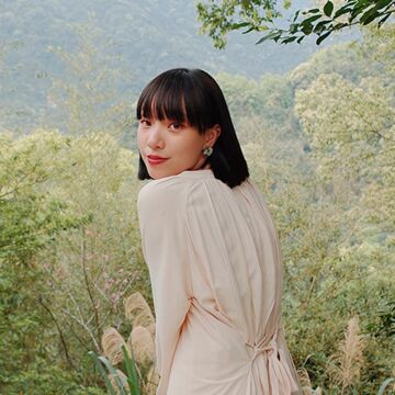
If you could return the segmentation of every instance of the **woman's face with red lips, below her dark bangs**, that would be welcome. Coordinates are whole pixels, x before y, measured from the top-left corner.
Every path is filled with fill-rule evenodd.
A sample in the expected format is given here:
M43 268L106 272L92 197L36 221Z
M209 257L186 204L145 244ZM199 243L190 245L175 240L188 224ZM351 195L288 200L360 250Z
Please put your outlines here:
M153 179L200 169L207 140L207 133L202 135L198 128L172 120L142 116L137 128L138 148Z

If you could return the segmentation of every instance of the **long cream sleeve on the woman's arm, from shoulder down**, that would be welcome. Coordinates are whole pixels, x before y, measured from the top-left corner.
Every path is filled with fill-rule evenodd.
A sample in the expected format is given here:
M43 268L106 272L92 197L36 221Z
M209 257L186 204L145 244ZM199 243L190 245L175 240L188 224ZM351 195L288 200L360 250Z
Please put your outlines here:
M192 296L185 194L182 183L158 180L145 185L137 200L142 249L149 269L156 314L158 395L167 394L174 351Z

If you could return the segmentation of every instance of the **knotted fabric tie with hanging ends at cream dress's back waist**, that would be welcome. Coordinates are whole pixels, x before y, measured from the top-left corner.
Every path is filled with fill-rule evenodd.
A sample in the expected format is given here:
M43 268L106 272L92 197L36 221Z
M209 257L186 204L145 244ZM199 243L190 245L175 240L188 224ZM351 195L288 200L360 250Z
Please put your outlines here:
M268 342L268 337L263 337L259 342L248 342L246 346L253 350L253 354L250 359L250 369L253 374L252 365L258 357L262 357L267 360L268 379L271 386L271 394L275 395L290 395L294 391L298 391L298 386L295 379L292 376L289 364L286 363L284 351L279 348L276 341L276 334L272 336ZM264 366L261 370L264 371ZM261 381L261 379L260 379ZM261 381L262 382L262 381Z

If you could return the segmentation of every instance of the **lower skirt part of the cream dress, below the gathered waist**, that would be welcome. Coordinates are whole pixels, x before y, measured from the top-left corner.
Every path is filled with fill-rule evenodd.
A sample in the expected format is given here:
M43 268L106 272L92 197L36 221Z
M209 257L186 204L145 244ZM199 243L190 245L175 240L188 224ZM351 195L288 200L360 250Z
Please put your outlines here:
M191 298L173 359L168 395L181 395L187 385L189 390L183 394L292 394L297 386L276 332L258 340L246 341L242 331L221 312L207 311Z

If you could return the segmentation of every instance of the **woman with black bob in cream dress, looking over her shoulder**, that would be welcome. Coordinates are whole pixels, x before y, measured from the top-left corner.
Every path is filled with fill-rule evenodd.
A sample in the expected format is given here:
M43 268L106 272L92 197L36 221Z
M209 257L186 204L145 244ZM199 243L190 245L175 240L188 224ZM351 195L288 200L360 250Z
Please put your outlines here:
M281 321L279 240L224 95L205 71L156 77L137 103L142 247L159 395L298 393Z

